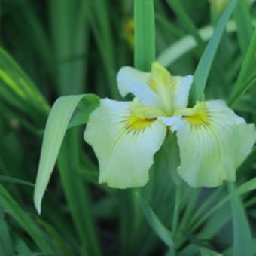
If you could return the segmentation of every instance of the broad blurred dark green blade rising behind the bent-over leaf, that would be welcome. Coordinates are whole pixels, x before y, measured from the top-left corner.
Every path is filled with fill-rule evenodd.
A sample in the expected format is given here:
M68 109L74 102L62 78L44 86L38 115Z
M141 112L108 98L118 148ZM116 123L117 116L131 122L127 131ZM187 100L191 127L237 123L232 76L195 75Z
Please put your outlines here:
M84 91L87 70L88 20L90 3L87 1L49 1L50 29L56 61L56 74L60 95Z

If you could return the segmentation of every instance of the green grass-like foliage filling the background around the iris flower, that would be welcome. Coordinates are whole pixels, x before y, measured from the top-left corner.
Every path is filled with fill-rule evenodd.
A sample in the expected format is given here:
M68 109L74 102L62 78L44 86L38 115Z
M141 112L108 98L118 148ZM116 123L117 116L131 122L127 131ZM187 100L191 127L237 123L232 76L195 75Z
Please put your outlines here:
M152 62L174 76L193 75L180 118L197 123L204 116L190 116L196 102L222 99L252 130L255 15L256 4L246 0L2 0L0 255L255 255L255 148L236 166L235 181L200 186L179 175L186 147L179 128L167 128L148 183L117 189L99 184L104 162L83 139L88 127L90 142L101 98L133 100L121 97L117 72L151 72ZM154 73L152 88L152 78L166 78L159 63L152 67L163 77ZM99 138L111 131L108 115L102 120ZM141 128L130 122L129 129ZM223 152L236 156L253 144L241 131L218 143L240 149ZM205 179L214 177L215 169L203 171Z

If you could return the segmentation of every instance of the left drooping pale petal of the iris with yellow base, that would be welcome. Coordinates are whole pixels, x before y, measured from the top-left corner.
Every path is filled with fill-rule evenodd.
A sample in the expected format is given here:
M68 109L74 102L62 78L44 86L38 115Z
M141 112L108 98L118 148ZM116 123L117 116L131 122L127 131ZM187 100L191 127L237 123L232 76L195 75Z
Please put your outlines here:
M110 187L139 187L148 181L154 153L166 136L161 120L141 120L130 102L102 99L90 115L84 139L99 160L99 183Z

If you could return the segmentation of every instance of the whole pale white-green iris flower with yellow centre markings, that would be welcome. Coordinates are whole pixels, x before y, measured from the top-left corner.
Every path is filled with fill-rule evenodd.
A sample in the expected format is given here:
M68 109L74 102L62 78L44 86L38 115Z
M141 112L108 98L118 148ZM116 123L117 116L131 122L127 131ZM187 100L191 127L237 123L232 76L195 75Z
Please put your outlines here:
M191 75L170 75L157 62L150 73L120 69L120 94L133 93L133 101L101 99L84 133L99 160L99 183L115 188L145 185L168 131L176 133L178 173L190 186L215 187L235 180L237 166L254 145L254 125L221 100L187 108L192 81Z

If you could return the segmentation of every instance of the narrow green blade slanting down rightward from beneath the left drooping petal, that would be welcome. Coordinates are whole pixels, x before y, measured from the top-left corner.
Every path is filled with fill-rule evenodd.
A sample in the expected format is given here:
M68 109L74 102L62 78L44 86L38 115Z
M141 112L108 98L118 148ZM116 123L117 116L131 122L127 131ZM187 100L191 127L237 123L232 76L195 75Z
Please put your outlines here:
M150 224L151 228L157 234L157 236L169 247L174 249L174 242L172 241L172 233L167 230L166 227L160 222L157 218L157 215L154 214L151 207L148 203L138 194L136 194L139 200L139 204L144 212L145 217L147 218L148 224Z

